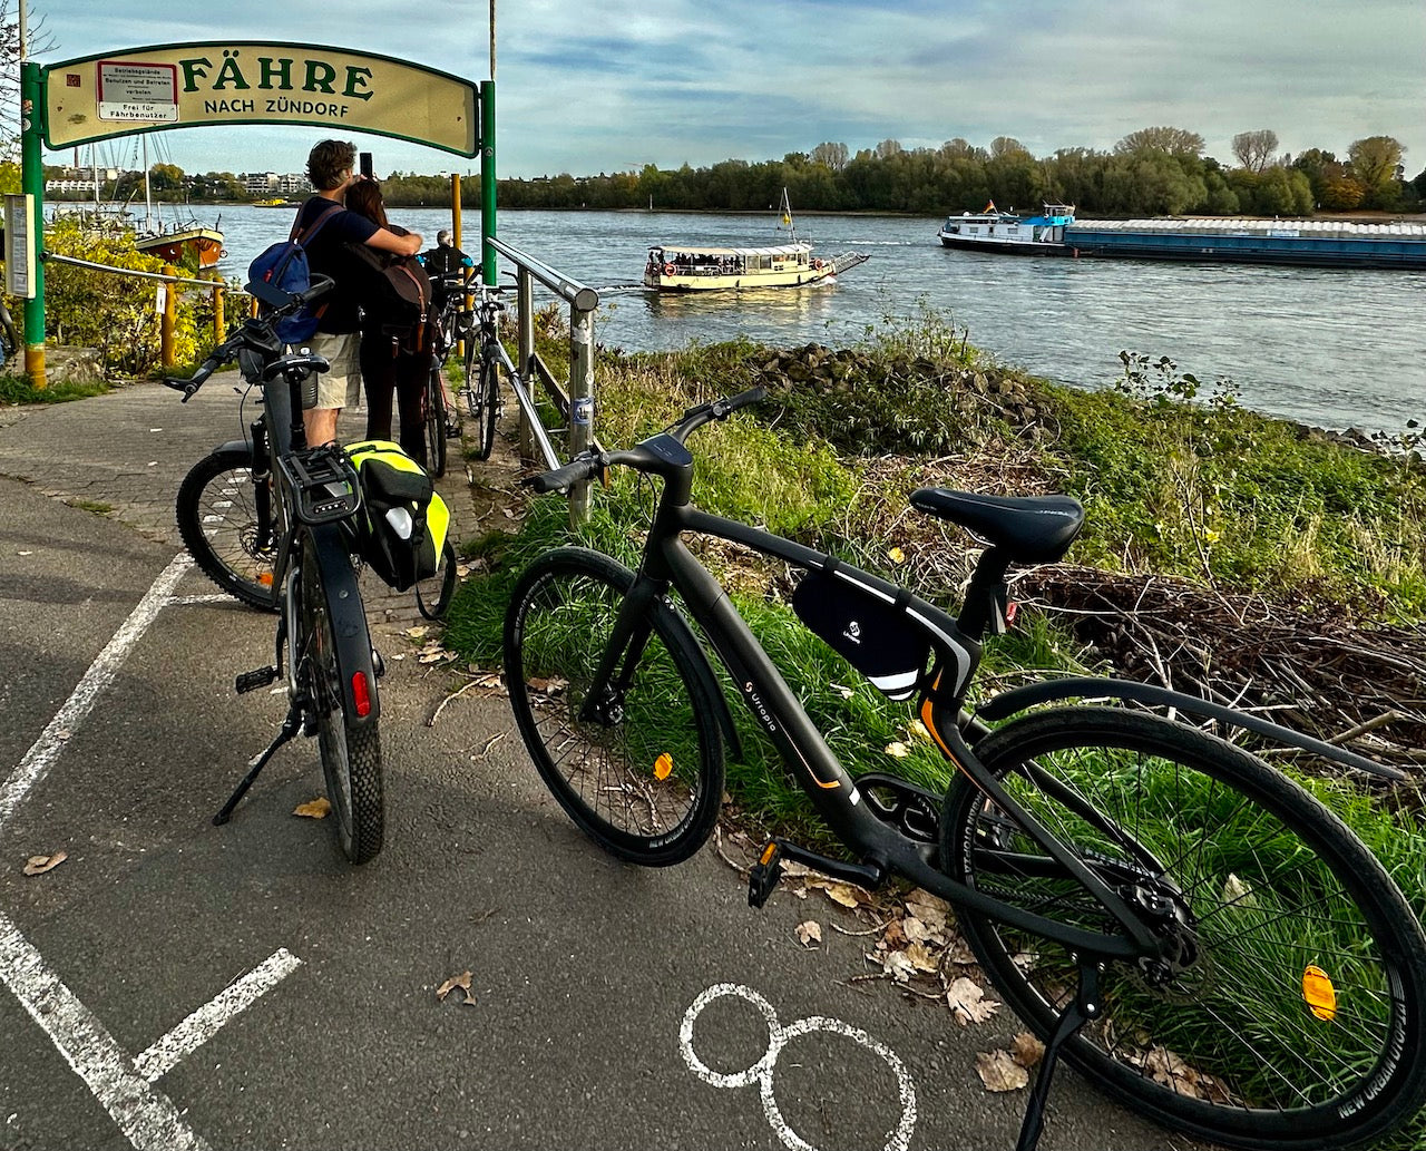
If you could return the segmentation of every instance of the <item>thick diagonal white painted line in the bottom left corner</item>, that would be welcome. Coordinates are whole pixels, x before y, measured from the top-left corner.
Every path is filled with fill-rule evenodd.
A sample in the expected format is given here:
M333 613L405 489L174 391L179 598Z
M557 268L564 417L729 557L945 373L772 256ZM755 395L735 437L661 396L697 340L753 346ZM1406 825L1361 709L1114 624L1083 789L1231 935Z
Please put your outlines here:
M161 1091L128 1065L114 1037L0 911L0 981L24 1004L135 1151L207 1151Z

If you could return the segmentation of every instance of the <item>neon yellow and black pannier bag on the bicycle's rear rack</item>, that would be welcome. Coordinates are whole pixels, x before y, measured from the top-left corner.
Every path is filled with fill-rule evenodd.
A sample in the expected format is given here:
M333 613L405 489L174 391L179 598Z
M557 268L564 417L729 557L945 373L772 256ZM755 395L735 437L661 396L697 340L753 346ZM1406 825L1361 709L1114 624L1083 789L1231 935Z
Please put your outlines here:
M362 559L398 592L435 575L451 512L426 469L389 439L349 444L361 482L356 543Z

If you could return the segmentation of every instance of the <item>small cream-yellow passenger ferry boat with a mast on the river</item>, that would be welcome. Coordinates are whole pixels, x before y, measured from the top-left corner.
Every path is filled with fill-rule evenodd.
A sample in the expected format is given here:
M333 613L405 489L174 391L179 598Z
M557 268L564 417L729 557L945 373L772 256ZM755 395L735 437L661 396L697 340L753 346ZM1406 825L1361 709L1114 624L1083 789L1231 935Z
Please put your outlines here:
M713 248L700 244L656 244L649 248L643 285L657 291L729 291L743 288L801 288L824 284L838 272L864 264L870 255L841 252L821 260L811 244L797 240L793 213L783 188L781 227L790 244L761 248Z

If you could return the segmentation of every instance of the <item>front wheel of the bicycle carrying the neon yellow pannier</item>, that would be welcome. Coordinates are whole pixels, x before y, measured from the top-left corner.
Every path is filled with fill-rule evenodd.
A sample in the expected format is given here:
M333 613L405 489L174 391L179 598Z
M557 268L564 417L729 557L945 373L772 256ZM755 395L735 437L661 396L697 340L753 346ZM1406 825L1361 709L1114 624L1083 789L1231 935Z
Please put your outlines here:
M267 512L260 506L262 499ZM250 608L268 612L278 606L272 593L274 501L271 489L260 495L254 488L252 452L220 448L188 469L174 509L178 535L202 573Z

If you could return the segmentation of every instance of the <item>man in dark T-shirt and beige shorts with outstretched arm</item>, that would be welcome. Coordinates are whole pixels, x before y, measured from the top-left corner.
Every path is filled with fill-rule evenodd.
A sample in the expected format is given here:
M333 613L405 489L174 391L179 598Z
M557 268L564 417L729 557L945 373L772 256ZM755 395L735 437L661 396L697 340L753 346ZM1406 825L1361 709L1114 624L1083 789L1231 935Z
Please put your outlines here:
M347 188L361 177L355 173L356 145L349 140L322 140L307 157L307 178L317 194L297 213L295 232L301 238L314 224L329 215L321 231L307 245L307 262L314 275L329 275L337 287L324 298L325 308L317 334L307 342L315 355L325 357L331 371L318 378L317 406L302 412L307 444L315 448L337 439L337 414L355 402L361 382L358 349L361 324L356 287L364 268L348 254L347 244L366 244L396 255L421 251L416 232L396 235L364 215L347 211ZM351 398L349 398L351 397Z

